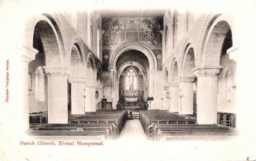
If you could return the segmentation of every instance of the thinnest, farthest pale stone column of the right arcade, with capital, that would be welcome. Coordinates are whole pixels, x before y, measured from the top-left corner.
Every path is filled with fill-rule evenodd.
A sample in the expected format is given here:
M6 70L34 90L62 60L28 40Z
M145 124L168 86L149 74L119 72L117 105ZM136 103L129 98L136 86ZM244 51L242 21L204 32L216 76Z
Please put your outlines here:
M178 83L168 83L171 97L170 100L170 112L179 112L179 84Z

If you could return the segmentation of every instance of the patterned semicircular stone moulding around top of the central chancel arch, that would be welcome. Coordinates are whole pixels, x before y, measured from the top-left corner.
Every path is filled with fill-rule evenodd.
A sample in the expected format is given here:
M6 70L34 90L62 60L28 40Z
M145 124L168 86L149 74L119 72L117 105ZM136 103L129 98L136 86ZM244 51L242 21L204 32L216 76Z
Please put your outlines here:
M123 42L121 45L115 48L114 52L111 54L111 57L109 58L109 70L116 70L116 61L118 60L118 57L127 50L138 50L142 53L144 53L148 60L149 60L149 70L157 70L157 59L153 51L144 43L142 42Z

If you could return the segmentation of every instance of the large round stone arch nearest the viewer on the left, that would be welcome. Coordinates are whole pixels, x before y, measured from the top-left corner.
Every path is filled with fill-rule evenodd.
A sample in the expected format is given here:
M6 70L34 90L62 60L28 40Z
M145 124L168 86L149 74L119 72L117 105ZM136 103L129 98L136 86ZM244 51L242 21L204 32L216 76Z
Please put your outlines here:
M48 42L43 41L43 47L48 48L45 50L46 58L48 57L46 65L50 67L69 67L69 46L57 14L43 13L30 17L27 19L24 28L23 34L27 41L22 46L33 48L34 35L38 35L40 32L40 39L49 40ZM43 32L44 30L46 32ZM52 58L58 60L58 63L50 61Z

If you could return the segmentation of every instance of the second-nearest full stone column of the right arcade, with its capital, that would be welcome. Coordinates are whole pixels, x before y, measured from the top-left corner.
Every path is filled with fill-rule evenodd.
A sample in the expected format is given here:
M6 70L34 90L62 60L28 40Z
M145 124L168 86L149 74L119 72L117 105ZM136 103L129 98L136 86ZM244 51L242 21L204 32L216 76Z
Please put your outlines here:
M180 114L193 114L193 82L194 78L178 78L179 79L179 111Z

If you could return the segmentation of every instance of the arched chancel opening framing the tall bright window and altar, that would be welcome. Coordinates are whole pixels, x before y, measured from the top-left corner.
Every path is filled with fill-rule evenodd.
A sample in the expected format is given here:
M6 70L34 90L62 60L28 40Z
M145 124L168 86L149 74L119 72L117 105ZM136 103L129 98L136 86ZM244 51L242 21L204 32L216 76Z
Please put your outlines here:
M147 56L138 50L127 50L116 61L116 70L118 100L137 101L148 97L149 61ZM129 82L135 86L128 84Z

